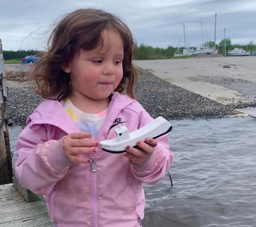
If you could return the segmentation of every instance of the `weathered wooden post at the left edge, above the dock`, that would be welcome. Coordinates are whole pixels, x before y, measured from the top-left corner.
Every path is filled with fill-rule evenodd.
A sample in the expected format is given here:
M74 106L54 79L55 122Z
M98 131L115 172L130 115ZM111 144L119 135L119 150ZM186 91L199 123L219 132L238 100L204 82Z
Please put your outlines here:
M0 185L12 183L12 161L6 110L7 88L5 83L4 57L0 39Z

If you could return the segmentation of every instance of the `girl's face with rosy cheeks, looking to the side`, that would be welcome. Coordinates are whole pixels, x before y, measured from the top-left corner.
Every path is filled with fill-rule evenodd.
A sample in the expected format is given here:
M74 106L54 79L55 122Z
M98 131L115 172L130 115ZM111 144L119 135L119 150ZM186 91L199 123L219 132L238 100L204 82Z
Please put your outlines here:
M114 30L104 30L103 47L83 50L62 69L70 73L72 93L91 99L109 97L123 77L123 41Z

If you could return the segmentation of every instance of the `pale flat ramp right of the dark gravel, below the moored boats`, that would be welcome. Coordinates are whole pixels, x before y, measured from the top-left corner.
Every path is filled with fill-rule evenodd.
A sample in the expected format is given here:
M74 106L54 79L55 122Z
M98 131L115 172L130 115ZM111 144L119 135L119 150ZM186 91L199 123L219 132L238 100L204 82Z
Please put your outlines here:
M225 105L256 106L254 56L140 60L157 77Z

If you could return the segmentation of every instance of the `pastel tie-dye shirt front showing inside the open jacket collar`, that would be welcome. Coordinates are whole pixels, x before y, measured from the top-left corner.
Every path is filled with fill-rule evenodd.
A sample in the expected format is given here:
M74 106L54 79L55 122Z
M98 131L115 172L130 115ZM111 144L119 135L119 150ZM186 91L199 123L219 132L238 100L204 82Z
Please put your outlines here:
M107 114L107 109L98 114L84 113L76 108L69 98L64 101L64 109L68 112L80 131L92 133L92 139L96 138Z

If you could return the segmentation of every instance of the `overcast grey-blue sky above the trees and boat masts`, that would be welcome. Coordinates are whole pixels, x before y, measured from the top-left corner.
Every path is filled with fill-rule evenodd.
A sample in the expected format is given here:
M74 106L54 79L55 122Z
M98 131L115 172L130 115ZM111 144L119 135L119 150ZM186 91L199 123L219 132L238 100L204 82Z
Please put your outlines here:
M256 43L255 0L0 0L0 38L4 50L43 49L49 30L60 15L79 8L96 7L123 18L138 44L153 47L200 46L200 18L214 40L214 15L217 15L216 42L226 37L232 43ZM209 38L203 29L204 42Z

